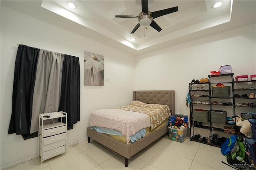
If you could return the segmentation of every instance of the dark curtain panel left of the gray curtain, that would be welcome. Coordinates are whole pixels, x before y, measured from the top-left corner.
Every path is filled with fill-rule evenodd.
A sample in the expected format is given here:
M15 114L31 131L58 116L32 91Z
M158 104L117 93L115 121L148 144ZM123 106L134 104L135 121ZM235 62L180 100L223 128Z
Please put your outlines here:
M8 134L30 132L32 99L40 49L19 45L14 66L12 115Z

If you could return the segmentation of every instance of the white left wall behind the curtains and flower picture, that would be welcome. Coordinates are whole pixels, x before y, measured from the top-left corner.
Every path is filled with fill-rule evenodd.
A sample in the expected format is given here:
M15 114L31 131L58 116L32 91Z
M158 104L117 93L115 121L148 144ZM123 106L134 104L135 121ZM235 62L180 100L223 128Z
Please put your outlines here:
M132 101L134 56L42 22L5 6L1 7L1 169L37 155L38 138L23 140L7 134L12 108L12 86L17 44L74 55L80 58L80 122L68 130L67 142L86 140L86 127L94 109L113 108ZM84 51L104 55L104 86L84 86ZM73 143L72 143L73 142Z

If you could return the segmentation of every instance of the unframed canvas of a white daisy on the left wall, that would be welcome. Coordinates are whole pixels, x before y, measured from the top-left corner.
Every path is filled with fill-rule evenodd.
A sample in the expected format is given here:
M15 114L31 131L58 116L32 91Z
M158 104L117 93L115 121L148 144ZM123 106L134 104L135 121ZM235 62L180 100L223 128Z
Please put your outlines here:
M84 51L84 85L103 85L104 57Z

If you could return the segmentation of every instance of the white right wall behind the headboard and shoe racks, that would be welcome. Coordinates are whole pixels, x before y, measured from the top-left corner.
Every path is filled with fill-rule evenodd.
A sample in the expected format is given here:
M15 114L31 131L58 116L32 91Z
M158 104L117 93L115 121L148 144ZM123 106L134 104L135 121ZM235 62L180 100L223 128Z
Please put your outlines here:
M236 28L136 56L135 90L175 90L176 113L188 114L192 79L232 65L234 77L256 74L256 26Z

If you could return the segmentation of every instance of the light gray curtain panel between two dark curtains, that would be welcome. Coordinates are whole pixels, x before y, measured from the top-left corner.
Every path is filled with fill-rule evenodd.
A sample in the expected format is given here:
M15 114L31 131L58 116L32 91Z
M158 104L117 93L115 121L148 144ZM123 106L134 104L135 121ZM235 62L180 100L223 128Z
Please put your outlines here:
M58 111L64 54L41 49L34 85L30 134L38 131L40 113Z

